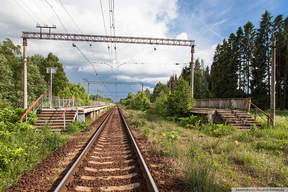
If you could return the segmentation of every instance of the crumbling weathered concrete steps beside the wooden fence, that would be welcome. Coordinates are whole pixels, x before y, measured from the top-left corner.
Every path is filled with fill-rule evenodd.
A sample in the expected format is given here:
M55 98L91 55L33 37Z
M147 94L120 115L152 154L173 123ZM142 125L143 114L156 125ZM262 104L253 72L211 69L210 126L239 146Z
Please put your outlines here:
M261 127L261 125L250 116L249 112L238 110L219 110L216 113L224 122L240 130L249 130L254 124L257 127Z

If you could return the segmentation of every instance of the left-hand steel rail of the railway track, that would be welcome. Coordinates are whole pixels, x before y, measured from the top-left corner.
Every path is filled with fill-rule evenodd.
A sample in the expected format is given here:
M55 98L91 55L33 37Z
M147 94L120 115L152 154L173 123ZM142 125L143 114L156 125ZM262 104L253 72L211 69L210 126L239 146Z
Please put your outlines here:
M79 170L79 165L83 163L83 160L88 153L88 149L91 148L93 145L94 139L99 135L100 131L102 130L103 126L106 124L107 120L109 119L110 115L112 114L114 108L110 111L109 115L106 117L106 119L103 121L101 124L100 128L96 131L88 145L85 147L85 149L82 151L80 156L77 158L75 163L72 165L72 167L69 169L69 171L66 173L64 178L61 180L59 185L56 187L54 192L62 192L62 191L67 191L67 187L69 185L69 182L72 182L74 176L73 174Z

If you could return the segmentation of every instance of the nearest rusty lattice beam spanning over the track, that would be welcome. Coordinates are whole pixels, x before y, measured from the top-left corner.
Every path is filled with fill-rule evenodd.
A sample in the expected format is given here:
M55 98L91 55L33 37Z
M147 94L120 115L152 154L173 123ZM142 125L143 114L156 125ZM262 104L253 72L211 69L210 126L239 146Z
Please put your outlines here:
M108 42L108 43L137 43L153 45L178 45L178 46L195 46L193 40L179 39L161 39L145 37L117 37L104 35L79 35L65 33L40 33L40 32L22 32L23 39L47 39L47 40L64 40L64 41L88 41L88 42Z

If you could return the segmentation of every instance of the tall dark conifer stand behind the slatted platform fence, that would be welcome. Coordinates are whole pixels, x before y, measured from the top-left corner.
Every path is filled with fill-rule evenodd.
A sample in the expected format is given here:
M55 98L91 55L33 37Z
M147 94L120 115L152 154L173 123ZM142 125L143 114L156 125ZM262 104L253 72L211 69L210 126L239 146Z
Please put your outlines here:
M259 28L248 21L228 41L218 44L208 74L212 98L251 97L261 108L270 106L271 43L268 26L276 37L276 108L287 109L288 17L272 21L267 10Z

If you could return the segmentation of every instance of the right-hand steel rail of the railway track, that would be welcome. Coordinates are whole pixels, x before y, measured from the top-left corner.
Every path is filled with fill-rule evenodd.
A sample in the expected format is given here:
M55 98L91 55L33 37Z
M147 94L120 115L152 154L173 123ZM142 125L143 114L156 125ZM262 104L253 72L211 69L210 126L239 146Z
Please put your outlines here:
M148 169L148 167L147 167L147 165L146 165L146 163L145 163L145 161L144 161L144 159L143 159L143 157L141 155L141 152L140 152L140 150L139 150L139 148L137 146L137 143L135 142L134 137L133 137L133 135L132 135L132 133L131 133L131 131L130 131L130 129L129 129L129 127L128 127L128 125L127 125L127 123L126 123L126 121L125 121L125 119L124 119L124 117L122 115L122 112L120 111L119 107L118 107L118 110L119 110L120 116L122 117L122 121L125 124L125 127L127 129L128 135L129 135L130 140L132 142L132 145L134 147L137 159L138 159L138 161L140 163L140 168L141 168L141 170L143 172L143 176L146 179L147 188L148 188L148 190L150 192L159 192L158 188L157 188L157 186L156 186L156 184L155 184L155 182L153 180L153 177L150 174L150 171L149 171L149 169Z

